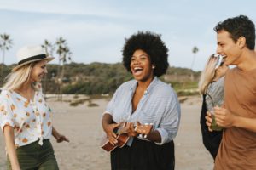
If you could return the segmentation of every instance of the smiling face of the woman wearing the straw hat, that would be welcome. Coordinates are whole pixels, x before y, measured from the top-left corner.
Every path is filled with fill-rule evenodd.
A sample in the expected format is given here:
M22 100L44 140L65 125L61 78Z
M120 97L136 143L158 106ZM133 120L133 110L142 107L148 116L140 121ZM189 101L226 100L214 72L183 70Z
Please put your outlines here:
M47 73L46 65L47 65L47 61L42 60L33 66L32 73L31 73L32 82L42 81L44 75Z

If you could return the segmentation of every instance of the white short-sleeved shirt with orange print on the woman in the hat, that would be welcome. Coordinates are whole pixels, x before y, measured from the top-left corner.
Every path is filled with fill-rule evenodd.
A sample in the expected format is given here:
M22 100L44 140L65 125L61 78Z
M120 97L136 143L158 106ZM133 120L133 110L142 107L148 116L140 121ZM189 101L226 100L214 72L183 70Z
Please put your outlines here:
M52 133L50 109L46 105L42 89L36 91L34 99L28 101L15 91L3 90L0 95L0 125L14 127L15 146L31 144L39 139L49 139Z

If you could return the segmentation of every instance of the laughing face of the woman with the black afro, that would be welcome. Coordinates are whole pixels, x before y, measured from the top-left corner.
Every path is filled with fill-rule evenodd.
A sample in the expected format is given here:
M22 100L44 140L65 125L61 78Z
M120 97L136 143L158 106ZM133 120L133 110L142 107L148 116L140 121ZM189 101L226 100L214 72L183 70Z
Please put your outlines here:
M137 49L131 57L131 73L140 82L147 82L154 77L154 69L148 54L143 50Z

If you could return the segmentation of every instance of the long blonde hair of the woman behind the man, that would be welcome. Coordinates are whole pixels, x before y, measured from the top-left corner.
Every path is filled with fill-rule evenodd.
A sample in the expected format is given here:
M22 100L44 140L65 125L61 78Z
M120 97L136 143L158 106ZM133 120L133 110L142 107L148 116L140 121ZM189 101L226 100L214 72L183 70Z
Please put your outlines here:
M200 94L206 94L208 85L212 82L215 76L215 67L218 64L218 57L214 54L210 56L203 71L201 71L201 77L198 83Z

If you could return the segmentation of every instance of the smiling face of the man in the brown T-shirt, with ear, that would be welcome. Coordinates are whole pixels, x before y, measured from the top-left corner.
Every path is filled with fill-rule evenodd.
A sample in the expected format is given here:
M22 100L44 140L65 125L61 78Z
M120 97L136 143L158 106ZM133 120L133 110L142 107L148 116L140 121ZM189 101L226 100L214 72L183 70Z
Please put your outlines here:
M244 47L244 37L238 38L237 42L230 37L227 31L218 31L217 34L217 54L224 56L225 65L238 65L241 62L242 48Z

